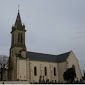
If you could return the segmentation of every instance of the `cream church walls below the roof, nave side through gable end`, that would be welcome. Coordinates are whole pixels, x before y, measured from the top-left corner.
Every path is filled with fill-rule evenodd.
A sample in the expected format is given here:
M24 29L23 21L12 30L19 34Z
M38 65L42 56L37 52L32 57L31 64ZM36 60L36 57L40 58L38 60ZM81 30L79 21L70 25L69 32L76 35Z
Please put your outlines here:
M72 59L72 60L71 60ZM65 62L54 63L54 62L42 62L42 61L30 61L30 76L31 82L39 82L39 76L44 76L45 81L49 79L49 81L55 82L65 82L63 78L64 72L68 68L72 68L75 66L76 77L78 80L82 79L81 71L79 68L78 60L75 57L74 53L71 51ZM34 67L37 67L37 76L34 76ZM47 76L44 74L44 68L47 68ZM56 76L54 75L54 67L56 68ZM32 73L31 73L32 72Z

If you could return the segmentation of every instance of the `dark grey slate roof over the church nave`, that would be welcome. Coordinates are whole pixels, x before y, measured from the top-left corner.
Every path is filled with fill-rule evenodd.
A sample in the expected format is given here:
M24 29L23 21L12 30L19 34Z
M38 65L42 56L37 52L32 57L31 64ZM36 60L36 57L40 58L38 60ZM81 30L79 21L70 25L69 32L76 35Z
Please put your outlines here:
M29 60L47 62L64 62L68 58L69 54L70 52L63 53L60 55L51 55L27 51L27 57L29 57Z

